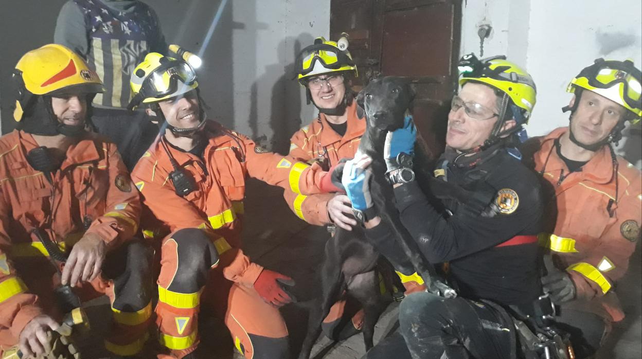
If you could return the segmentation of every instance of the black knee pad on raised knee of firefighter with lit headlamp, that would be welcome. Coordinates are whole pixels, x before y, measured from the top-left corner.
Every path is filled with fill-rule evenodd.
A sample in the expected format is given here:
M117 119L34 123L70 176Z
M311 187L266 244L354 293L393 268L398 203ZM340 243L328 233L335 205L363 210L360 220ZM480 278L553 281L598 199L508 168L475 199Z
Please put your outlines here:
M196 293L205 285L209 270L218 263L218 252L204 231L181 229L171 237L177 243L177 270L168 290Z

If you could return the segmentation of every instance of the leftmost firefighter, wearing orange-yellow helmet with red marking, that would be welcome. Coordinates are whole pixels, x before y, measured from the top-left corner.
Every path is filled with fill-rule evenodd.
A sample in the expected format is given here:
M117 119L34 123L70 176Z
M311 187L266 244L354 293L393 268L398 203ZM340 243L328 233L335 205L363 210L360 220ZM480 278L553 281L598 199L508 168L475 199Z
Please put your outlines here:
M102 83L53 44L26 53L13 80L19 123L0 137L0 353L48 355L64 314L55 291L69 285L80 299L107 293L105 346L135 355L152 313L151 253L131 240L141 204L116 145L86 130Z

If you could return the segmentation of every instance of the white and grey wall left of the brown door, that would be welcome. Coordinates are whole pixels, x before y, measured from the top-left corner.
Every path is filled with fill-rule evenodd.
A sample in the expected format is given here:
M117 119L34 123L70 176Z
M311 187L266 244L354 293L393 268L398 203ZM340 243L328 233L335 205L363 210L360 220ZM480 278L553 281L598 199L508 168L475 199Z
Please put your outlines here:
M329 33L330 2L316 0L145 0L159 15L168 42L202 51L199 83L208 114L270 146L288 142L313 107L293 78L297 51ZM0 5L1 116L13 125L9 78L17 60L30 49L53 41L65 0L3 1ZM219 11L220 20L207 41ZM20 33L20 36L17 34ZM286 71L288 73L286 73ZM288 146L285 147L286 149Z

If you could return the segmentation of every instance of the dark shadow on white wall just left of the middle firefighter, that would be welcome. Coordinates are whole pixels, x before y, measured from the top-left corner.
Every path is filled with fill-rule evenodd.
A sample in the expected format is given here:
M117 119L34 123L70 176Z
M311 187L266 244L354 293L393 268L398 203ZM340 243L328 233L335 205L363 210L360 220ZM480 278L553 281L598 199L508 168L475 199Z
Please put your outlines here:
M286 37L277 46L278 62L265 66L265 71L252 84L250 89L250 129L257 143L270 148L273 152L288 153L290 137L301 127L301 91L296 76L295 58L299 51L313 41L312 35L302 33L299 37ZM281 74L278 76L278 74ZM278 77L277 77L278 76ZM266 89L273 83L272 89ZM272 96L269 119L266 111L260 109L263 96ZM259 121L269 121L272 138L259 133ZM264 127L265 128L265 127Z

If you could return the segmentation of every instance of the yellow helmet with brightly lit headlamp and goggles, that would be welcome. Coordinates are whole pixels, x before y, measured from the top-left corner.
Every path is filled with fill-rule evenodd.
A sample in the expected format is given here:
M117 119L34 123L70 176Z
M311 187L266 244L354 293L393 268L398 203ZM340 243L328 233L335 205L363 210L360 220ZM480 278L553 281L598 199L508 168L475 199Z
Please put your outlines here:
M196 72L182 59L159 53L148 53L143 62L132 71L130 85L134 96L128 108L141 103L154 103L198 87Z

